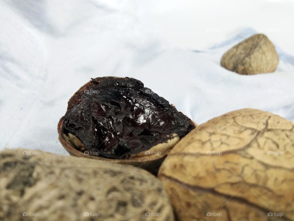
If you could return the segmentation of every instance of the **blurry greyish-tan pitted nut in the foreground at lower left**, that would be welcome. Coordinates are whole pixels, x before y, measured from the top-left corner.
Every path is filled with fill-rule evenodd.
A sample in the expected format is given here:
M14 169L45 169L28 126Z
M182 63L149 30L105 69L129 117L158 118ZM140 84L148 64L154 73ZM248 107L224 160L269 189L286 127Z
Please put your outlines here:
M129 165L7 149L0 184L0 220L174 220L160 181Z

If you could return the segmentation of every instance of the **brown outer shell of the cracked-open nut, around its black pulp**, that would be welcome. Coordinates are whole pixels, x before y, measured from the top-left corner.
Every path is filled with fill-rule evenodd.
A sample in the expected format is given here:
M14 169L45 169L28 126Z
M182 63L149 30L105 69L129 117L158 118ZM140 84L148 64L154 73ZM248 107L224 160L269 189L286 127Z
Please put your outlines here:
M114 77L116 78L116 77ZM117 77L119 78L119 77ZM103 81L105 77L95 78L95 80ZM84 90L89 90L93 86L92 82L88 82L85 85L83 85L68 101L68 107L67 111L70 110L75 103L79 102L80 96L83 94ZM63 147L70 153L72 156L77 157L87 157L92 159L99 159L104 161L110 161L120 164L127 164L127 165L133 165L137 167L141 167L144 169L147 169L151 173L157 173L157 170L159 166L161 165L164 158L167 156L169 151L174 147L174 145L179 142L180 138L177 134L173 134L169 138L167 137L166 142L162 144L157 144L149 149L149 151L153 152L160 152L160 154L154 154L154 155L146 155L145 151L142 151L138 154L133 154L130 156L129 159L108 159L105 157L99 157L99 156L92 156L84 154L83 152L77 150L74 146L72 146L69 142L66 141L64 134L62 132L62 125L63 125L64 118L62 117L60 121L58 122L58 134L59 134L59 141L63 145ZM191 120L192 122L192 120ZM194 122L193 122L194 123ZM196 126L197 124L194 123ZM82 144L81 144L82 145ZM83 146L83 145L82 145Z

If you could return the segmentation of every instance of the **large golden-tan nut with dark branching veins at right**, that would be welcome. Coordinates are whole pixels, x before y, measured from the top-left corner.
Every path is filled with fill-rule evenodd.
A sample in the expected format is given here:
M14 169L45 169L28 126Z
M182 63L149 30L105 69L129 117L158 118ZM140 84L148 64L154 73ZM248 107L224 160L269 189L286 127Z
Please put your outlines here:
M158 174L177 218L294 220L293 125L269 112L242 109L192 130Z

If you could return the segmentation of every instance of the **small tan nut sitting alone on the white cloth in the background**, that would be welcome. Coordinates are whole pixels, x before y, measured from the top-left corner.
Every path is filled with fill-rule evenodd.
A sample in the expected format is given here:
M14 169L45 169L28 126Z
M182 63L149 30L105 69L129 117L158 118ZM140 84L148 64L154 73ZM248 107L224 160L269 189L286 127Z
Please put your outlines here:
M274 72L279 63L275 46L263 34L256 34L229 49L221 66L244 75Z

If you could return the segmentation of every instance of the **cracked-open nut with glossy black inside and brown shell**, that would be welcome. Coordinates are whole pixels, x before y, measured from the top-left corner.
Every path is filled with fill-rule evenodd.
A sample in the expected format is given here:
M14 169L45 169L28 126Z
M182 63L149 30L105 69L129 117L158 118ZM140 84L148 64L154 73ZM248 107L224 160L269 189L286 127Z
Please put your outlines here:
M59 140L73 156L130 164L156 173L195 124L134 78L99 77L69 100Z

